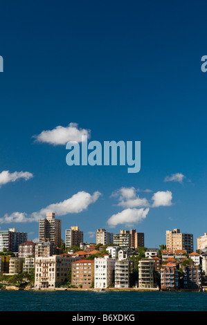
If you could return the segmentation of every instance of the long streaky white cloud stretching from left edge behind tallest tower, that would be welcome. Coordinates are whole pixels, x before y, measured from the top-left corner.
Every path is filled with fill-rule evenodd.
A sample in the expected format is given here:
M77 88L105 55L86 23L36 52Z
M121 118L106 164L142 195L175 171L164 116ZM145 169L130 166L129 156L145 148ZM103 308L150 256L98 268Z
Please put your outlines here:
M100 192L94 192L92 195L87 192L78 192L60 203L54 203L39 210L39 212L33 212L32 214L26 214L25 212L13 212L8 215L5 214L3 218L0 218L0 223L23 223L39 221L40 218L44 218L47 212L55 212L56 216L64 216L66 214L80 213L83 210L87 210L87 207L91 203L95 203Z

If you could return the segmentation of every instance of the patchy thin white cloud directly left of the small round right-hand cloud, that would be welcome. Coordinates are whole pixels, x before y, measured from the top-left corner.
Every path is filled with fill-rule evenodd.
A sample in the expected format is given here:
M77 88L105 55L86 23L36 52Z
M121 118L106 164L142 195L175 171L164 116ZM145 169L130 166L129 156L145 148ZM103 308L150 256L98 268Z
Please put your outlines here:
M112 193L111 196L117 197L121 207L147 207L149 203L147 198L140 198L136 194L134 187L121 187L116 192Z

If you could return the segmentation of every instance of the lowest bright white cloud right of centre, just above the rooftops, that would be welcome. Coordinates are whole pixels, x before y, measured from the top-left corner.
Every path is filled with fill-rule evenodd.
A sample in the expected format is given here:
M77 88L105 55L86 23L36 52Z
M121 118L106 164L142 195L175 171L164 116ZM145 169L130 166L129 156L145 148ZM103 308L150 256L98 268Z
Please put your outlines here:
M149 212L149 208L147 209L125 209L122 212L118 212L118 214L113 214L107 221L109 227L116 227L118 224L124 225L134 225L134 223L138 223L143 221L146 218L147 213Z

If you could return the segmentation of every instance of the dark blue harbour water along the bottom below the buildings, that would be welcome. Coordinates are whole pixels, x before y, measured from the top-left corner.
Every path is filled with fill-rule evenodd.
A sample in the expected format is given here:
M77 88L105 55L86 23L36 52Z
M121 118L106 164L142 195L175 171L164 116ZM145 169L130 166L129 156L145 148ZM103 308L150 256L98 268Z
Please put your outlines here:
M206 311L207 293L0 291L1 311Z

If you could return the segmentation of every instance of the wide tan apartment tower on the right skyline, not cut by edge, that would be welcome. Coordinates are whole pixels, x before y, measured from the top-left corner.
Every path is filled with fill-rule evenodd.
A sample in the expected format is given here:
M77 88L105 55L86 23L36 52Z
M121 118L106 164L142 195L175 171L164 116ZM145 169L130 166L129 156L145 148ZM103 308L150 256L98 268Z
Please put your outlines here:
M167 250L186 250L187 254L193 252L193 235L183 234L179 229L166 231L166 249Z

